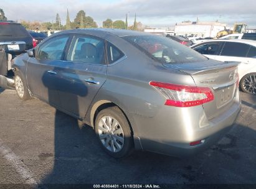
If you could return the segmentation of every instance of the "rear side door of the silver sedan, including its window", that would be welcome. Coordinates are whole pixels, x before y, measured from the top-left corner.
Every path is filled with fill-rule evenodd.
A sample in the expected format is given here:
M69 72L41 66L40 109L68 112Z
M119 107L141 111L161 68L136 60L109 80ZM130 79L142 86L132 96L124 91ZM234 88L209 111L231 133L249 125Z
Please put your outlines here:
M105 40L74 35L65 62L55 67L55 71L61 78L58 87L61 108L83 118L106 80Z

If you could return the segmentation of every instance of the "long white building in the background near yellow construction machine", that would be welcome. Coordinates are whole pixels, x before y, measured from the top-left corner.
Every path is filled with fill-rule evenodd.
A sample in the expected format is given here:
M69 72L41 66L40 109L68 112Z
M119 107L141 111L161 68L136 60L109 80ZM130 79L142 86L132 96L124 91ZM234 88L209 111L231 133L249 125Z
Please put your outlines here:
M217 32L224 30L227 24L220 22L201 22L197 19L196 22L181 22L175 25L174 32L176 35L197 37L216 37Z

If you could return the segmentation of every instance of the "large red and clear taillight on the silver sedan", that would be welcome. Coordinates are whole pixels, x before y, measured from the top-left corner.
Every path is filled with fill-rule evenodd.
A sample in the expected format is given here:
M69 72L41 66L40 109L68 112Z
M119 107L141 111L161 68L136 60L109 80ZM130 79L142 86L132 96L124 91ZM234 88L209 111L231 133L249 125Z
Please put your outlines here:
M165 105L176 107L191 107L208 103L214 99L212 90L207 87L176 85L150 81L153 86L166 98Z

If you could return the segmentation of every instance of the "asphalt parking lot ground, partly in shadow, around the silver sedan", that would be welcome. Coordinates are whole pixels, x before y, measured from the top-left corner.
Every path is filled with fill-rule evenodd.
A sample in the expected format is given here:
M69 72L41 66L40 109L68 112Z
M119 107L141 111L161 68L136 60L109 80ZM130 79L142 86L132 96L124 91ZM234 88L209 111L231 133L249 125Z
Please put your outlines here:
M235 126L202 154L178 159L139 151L116 160L82 122L0 89L0 184L256 184L256 96L240 96Z

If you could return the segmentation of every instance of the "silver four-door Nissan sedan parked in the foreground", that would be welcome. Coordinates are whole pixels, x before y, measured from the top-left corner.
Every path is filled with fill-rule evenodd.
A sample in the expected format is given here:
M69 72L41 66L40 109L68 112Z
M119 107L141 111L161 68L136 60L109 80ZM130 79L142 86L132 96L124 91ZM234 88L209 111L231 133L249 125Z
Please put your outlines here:
M36 97L95 129L113 157L133 149L184 156L209 148L241 105L237 63L166 37L65 30L14 59L22 100Z

